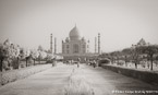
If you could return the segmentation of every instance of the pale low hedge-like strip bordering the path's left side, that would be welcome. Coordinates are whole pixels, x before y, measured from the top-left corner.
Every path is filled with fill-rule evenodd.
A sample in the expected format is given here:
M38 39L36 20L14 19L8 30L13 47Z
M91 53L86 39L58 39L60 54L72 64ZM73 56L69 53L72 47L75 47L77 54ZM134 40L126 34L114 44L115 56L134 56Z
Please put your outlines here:
M44 71L51 67L52 64L39 64L39 66L33 66L28 68L19 69L19 70L11 70L3 73L0 72L0 85L14 82L20 79L24 79L26 76Z

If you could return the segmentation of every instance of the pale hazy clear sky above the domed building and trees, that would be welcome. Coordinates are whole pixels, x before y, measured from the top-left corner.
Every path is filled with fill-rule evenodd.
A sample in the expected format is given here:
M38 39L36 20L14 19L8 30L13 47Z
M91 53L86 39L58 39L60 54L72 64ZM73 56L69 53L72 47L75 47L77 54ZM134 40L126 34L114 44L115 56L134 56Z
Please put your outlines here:
M0 43L9 38L25 48L50 48L77 26L90 41L101 35L101 51L131 47L141 38L158 44L158 0L0 0Z

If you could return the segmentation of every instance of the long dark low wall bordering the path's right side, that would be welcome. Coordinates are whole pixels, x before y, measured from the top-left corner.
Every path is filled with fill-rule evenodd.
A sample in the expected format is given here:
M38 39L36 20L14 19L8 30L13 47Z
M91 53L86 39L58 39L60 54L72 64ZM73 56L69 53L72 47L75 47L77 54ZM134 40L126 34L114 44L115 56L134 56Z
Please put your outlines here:
M102 66L102 68L111 70L113 72L131 76L134 79L138 79L141 81L144 81L146 83L158 85L158 73L150 72L150 71L139 71L134 69L127 69L127 68L121 68L121 67L114 67L114 66Z

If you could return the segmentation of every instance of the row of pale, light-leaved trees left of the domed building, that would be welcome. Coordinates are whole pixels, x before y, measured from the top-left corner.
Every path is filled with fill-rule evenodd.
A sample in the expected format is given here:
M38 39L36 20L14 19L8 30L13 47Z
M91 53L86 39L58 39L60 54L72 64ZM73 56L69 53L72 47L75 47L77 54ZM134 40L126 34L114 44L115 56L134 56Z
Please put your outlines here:
M38 49L25 49L12 44L9 39L0 44L0 71L10 70L11 68L19 69L21 60L25 60L25 67L28 67L31 60L34 61L35 66L36 60L40 63L41 60L51 60L52 58L53 55L41 46Z

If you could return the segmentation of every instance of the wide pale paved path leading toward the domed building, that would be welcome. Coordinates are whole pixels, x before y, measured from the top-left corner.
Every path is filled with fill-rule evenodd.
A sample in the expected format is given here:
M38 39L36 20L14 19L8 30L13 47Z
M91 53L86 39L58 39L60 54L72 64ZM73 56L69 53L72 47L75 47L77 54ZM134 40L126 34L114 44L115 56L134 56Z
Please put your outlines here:
M86 81L90 83L95 95L158 95L157 86L102 68L94 69L85 64L81 66L80 69L76 66L57 66L0 87L0 95L64 95L70 76L74 71L81 71L76 74L84 75ZM153 94L147 94L149 91Z

